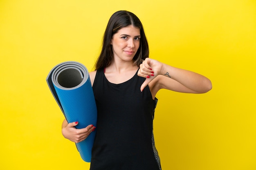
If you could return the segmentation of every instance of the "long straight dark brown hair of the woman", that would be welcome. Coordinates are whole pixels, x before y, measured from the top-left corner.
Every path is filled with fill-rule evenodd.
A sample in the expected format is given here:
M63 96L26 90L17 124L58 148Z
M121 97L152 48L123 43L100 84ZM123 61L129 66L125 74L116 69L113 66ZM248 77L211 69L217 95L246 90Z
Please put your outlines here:
M112 46L110 44L112 36L117 33L119 29L129 25L139 28L141 35L139 48L135 56L133 57L134 64L139 66L139 64L141 63L141 59L144 60L148 57L148 41L146 39L146 35L144 33L144 29L139 18L129 11L117 11L110 17L108 21L108 25L103 36L101 54L99 55L97 62L95 63L95 70L106 68L112 63L114 59Z

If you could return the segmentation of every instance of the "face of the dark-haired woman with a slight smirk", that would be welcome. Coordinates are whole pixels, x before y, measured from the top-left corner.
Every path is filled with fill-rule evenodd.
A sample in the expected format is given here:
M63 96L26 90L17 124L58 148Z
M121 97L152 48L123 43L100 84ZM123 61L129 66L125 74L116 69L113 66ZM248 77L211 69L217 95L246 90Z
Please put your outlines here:
M114 59L132 61L139 48L140 30L132 25L121 28L111 39Z

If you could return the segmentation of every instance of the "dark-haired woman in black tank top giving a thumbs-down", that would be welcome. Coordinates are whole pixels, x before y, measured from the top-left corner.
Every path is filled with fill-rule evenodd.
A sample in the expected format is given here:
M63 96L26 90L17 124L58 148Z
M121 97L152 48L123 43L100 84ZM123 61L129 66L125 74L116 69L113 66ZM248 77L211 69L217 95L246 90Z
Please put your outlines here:
M97 134L90 170L161 170L153 137L153 118L159 89L205 93L211 81L195 72L148 58L139 18L117 11L108 22L101 54L90 72L98 110ZM62 133L83 141L95 127L76 129L63 121Z

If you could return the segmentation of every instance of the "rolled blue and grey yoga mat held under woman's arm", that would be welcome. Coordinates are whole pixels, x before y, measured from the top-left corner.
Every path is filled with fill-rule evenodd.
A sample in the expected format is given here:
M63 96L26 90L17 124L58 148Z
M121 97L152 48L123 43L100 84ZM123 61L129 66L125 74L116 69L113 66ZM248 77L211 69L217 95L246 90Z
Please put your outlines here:
M89 124L97 126L97 107L87 68L78 62L67 61L56 65L46 78L47 84L67 122L79 123L77 129ZM96 130L76 144L81 158L90 162Z

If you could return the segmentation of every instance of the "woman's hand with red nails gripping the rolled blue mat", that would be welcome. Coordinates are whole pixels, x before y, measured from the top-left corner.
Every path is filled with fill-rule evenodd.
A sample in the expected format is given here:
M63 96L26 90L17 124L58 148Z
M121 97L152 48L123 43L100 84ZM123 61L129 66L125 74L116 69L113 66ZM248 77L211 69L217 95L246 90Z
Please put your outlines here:
M64 120L62 124L62 135L66 139L69 139L75 143L82 142L96 128L95 126L90 124L83 129L76 129L75 126L77 124L79 124L79 122L71 122L67 124L67 120Z

